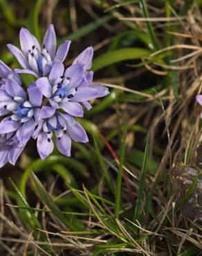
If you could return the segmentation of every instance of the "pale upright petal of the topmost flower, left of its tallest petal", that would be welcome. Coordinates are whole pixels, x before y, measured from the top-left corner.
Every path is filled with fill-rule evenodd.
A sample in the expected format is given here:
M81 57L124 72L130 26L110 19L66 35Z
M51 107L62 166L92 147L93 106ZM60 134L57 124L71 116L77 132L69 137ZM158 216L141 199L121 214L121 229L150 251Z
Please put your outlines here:
M31 50L33 46L41 51L38 40L26 28L21 28L19 32L19 41L21 51L23 51L24 54L28 54L28 51Z

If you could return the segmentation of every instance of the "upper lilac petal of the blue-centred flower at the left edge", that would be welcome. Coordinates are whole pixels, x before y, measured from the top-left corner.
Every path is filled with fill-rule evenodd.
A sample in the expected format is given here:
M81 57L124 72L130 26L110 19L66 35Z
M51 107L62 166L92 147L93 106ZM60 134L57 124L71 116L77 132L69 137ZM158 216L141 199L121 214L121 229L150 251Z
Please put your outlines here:
M6 79L5 89L6 89L6 93L8 93L11 97L18 96L18 97L26 99L26 92L12 78Z

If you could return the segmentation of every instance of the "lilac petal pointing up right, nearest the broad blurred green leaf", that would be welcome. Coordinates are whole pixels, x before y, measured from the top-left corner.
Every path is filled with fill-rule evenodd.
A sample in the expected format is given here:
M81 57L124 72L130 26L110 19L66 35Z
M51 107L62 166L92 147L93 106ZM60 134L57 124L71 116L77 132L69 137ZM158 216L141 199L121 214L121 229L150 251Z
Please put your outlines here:
M84 65L84 70L88 70L92 66L92 60L93 60L93 47L90 46L86 48L78 57L73 61L73 64L80 63Z

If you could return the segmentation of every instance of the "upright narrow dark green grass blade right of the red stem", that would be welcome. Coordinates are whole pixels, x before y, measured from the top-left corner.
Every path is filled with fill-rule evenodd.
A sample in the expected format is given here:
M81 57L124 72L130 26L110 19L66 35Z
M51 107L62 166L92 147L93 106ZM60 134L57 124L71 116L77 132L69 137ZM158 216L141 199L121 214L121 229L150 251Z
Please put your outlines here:
M142 212L142 199L143 199L143 191L144 191L144 185L145 185L145 175L147 172L147 163L148 163L148 156L149 156L149 134L147 136L147 143L145 147L145 154L143 159L143 167L140 174L140 186L138 190L138 197L136 201L136 208L134 212L134 221L137 219L140 220L141 212Z

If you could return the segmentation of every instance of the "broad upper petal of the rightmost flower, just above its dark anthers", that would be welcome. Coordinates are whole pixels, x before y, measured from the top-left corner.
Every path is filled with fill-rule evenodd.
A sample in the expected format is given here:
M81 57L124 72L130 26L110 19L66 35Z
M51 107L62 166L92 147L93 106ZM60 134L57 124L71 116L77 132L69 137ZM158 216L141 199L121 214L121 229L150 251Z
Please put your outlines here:
M81 64L74 64L66 68L64 76L70 78L68 88L76 88L83 80L83 73L84 68Z

